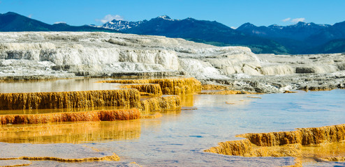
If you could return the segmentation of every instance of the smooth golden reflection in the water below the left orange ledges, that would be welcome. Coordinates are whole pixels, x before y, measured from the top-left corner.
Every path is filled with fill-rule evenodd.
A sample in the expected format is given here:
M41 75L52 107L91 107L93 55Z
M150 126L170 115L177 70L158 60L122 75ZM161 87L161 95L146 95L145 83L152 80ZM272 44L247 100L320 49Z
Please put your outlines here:
M140 120L2 125L0 142L38 144L135 140L140 138L140 132Z

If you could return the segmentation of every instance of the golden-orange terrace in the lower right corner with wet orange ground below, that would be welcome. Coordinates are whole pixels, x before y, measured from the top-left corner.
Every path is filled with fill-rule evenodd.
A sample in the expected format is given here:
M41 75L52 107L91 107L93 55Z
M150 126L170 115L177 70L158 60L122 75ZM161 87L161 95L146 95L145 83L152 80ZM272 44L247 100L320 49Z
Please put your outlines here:
M344 161L344 124L298 128L292 132L240 134L240 141L218 143L205 152L242 157L298 157L318 161Z

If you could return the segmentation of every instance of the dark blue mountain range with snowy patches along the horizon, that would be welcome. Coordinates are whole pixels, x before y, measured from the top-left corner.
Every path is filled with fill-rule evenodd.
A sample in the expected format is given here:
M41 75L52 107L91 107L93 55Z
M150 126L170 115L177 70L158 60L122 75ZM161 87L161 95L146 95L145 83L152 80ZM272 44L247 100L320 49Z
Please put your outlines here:
M256 54L321 54L345 51L345 22L334 25L298 22L290 26L255 26L232 29L219 22L167 15L139 22L112 20L101 26L45 24L17 13L0 15L0 31L105 31L164 35L216 46L247 46Z

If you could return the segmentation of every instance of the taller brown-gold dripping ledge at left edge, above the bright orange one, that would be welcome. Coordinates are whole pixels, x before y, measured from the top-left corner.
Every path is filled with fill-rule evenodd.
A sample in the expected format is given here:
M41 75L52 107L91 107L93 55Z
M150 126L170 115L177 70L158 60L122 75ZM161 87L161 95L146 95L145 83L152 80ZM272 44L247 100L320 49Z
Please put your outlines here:
M43 93L0 93L0 110L64 109L96 106L136 107L140 93L136 89L90 90Z

